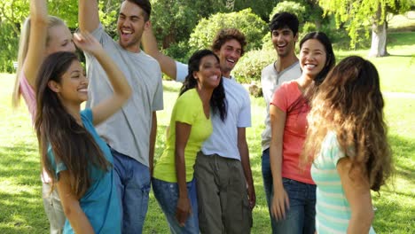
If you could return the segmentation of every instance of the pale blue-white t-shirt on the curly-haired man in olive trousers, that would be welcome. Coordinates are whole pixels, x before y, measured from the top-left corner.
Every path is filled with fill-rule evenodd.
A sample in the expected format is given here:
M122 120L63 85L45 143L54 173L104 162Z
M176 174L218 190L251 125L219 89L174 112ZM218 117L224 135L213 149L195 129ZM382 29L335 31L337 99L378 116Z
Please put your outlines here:
M176 81L184 82L188 66L176 61ZM251 100L247 90L234 79L223 78L227 116L224 121L219 114L211 114L213 133L202 146L206 154L218 154L224 158L240 160L238 149L238 128L251 126Z

